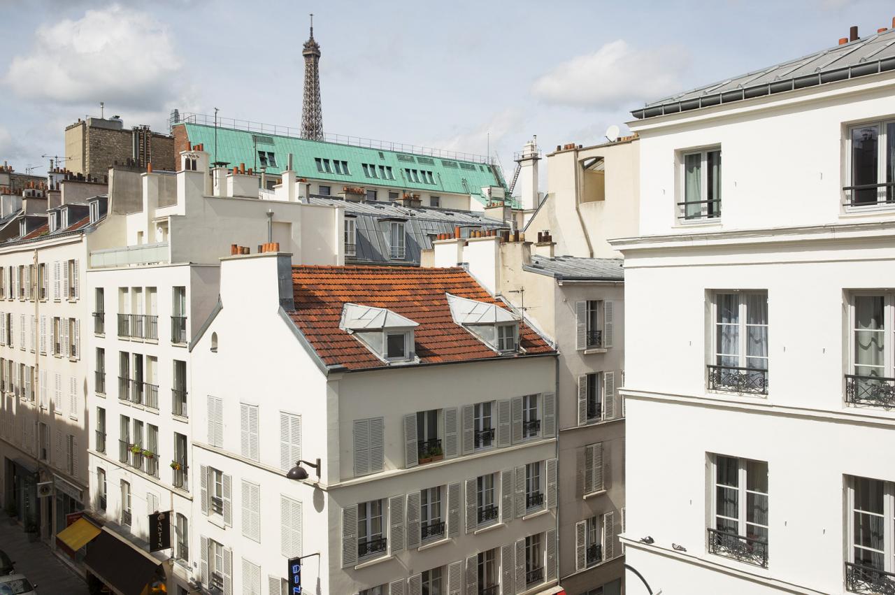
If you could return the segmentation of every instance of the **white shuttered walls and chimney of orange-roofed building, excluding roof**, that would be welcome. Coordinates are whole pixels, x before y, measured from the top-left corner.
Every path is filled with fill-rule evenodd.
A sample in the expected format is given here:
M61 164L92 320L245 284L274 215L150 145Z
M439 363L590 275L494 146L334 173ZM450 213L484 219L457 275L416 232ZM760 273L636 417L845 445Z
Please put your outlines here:
M500 593L555 586L554 357L327 370L278 311L277 267L288 257L226 259L223 308L192 346L196 370L244 370L192 378L204 399L193 400L193 468L227 478L221 514L211 480L197 494L202 582L217 580L212 554L221 544L226 593L285 592L277 585L296 556L307 557L305 590L419 595L424 581L440 580L442 592L477 593L480 552L492 552ZM291 286L284 292L290 299ZM523 395L538 398L541 425L531 437L523 405L532 401ZM477 448L482 403L496 423L493 445ZM418 412L436 412L435 460L417 443ZM319 480L308 465L308 480L286 479L297 460L318 458ZM491 478L481 506L480 476ZM529 555L537 565L526 566Z

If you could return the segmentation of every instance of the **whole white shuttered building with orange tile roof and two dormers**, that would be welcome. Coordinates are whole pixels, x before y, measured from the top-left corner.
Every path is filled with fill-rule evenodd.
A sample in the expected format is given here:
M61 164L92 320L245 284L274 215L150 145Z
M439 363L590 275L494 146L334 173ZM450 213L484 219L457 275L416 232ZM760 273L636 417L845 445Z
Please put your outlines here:
M561 591L555 351L503 302L272 252L223 259L221 303L191 344L205 589L285 594L302 557L303 592Z

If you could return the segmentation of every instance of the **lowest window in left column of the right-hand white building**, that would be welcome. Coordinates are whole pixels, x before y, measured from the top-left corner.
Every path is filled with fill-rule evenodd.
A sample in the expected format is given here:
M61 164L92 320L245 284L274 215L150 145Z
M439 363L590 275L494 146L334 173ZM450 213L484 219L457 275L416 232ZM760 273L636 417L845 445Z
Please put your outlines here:
M709 551L768 565L768 463L714 455Z

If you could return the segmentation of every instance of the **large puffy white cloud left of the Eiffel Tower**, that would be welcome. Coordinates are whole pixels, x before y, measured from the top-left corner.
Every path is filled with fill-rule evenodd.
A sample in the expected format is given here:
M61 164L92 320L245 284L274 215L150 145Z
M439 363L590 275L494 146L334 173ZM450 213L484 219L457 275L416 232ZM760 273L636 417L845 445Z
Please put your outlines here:
M23 98L158 110L174 94L181 63L166 28L147 13L119 4L89 10L39 27L34 42L4 80Z

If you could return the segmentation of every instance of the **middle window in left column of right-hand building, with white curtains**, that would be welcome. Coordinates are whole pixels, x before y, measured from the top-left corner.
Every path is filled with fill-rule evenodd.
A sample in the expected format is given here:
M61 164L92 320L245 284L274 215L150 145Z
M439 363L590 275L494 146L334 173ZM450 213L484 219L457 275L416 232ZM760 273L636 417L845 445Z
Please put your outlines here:
M768 294L715 293L709 389L768 393Z

